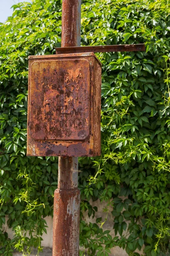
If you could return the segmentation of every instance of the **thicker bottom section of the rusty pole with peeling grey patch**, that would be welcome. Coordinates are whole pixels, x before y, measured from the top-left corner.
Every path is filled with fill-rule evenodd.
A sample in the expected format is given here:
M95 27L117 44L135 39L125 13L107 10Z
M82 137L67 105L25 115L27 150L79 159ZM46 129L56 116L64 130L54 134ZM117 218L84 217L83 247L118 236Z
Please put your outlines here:
M53 256L79 255L79 189L54 192Z

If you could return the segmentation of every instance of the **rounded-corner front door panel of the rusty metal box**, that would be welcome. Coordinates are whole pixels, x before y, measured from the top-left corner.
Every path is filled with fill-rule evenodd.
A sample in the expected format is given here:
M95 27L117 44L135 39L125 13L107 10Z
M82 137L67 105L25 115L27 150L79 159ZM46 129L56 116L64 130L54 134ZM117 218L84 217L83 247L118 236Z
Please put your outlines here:
M90 134L90 63L31 64L30 131L34 140L85 140Z

